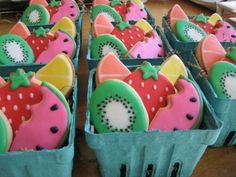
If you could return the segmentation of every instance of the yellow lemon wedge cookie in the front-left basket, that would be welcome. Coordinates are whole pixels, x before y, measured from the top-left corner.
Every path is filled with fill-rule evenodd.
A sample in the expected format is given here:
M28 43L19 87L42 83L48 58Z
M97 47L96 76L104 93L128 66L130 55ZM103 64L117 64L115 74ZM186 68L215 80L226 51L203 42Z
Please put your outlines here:
M35 77L40 81L49 82L65 96L69 96L75 80L74 66L67 55L59 54L40 68Z

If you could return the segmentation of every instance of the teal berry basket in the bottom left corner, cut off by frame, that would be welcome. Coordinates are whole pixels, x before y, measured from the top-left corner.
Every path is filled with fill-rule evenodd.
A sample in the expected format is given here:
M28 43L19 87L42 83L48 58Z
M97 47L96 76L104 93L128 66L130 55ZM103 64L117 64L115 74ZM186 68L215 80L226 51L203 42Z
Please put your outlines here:
M65 145L54 150L0 153L1 177L72 176L75 126L77 120L77 94L78 86L77 79L75 79L73 92L69 97L72 121L68 140Z

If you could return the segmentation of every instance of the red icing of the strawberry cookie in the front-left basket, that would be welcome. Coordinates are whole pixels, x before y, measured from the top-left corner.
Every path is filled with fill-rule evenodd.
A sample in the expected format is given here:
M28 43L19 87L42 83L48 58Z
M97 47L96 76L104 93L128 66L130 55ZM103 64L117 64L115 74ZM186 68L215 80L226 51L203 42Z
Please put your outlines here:
M31 117L31 105L42 100L41 86L31 82L30 87L10 89L10 82L0 88L0 110L11 123L13 132ZM20 96L22 94L22 96Z

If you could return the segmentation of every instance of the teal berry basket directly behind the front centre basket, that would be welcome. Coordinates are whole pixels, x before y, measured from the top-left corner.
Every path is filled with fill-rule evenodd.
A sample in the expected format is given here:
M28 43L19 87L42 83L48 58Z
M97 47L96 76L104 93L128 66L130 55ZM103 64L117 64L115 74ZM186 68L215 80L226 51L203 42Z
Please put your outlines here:
M164 33L162 32L160 27L156 27L156 32L157 34L161 37L161 40L163 42L163 47L164 47L164 51L165 51L165 57L167 55L169 55L172 52L172 48L169 44L169 42L167 41ZM91 50L90 50L90 45L91 45L91 40L92 40L92 35L91 35L91 31L89 33L89 37L88 37L88 49L87 49L87 62L88 62L88 68L89 70L96 68L97 64L99 63L100 60L92 58L91 56ZM146 60L148 62L150 62L151 64L160 64L163 62L164 57L159 57L159 58L152 58L152 59L148 59L148 58L121 58L121 61L126 65L126 66L131 66L131 65L140 65L143 63L143 61Z

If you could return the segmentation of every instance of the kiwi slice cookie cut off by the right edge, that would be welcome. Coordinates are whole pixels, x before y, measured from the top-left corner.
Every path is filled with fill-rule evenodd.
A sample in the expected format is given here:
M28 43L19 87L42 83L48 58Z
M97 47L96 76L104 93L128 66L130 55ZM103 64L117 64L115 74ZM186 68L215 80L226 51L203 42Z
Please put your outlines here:
M236 99L236 66L220 61L209 72L209 81L219 98Z

